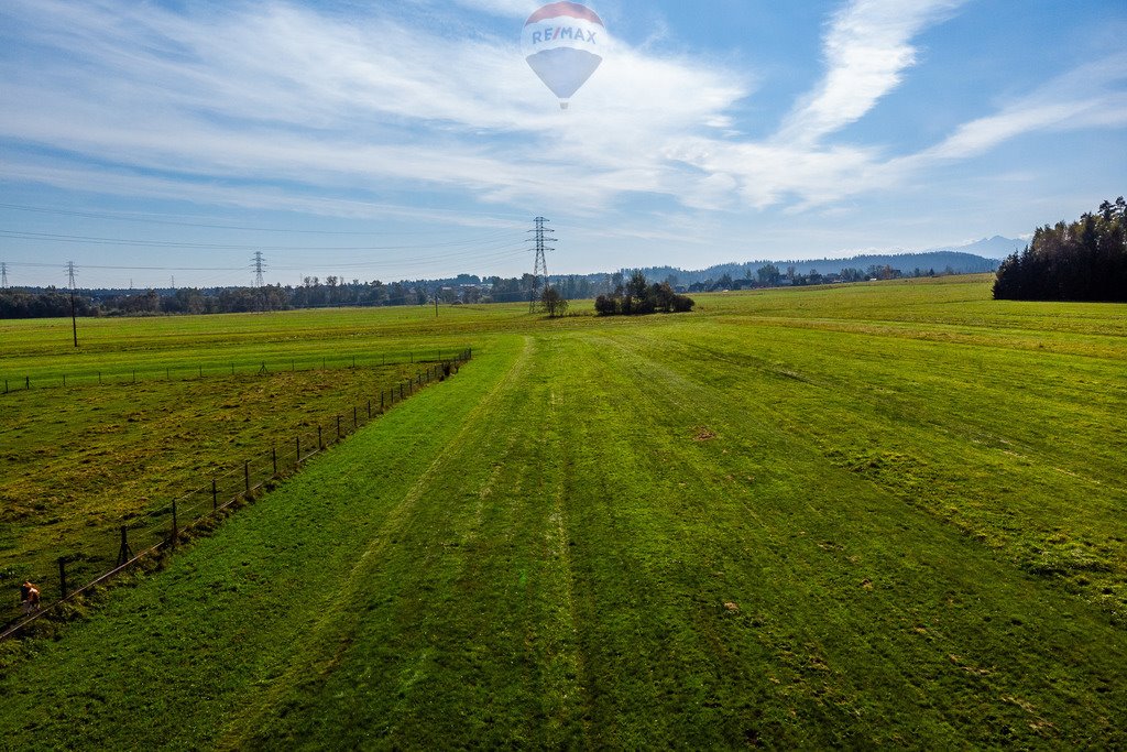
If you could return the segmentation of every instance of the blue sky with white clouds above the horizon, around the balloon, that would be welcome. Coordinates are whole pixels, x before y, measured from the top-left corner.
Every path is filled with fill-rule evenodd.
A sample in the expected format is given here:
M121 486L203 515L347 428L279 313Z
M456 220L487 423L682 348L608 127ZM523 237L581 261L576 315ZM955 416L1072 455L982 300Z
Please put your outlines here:
M1127 193L1117 1L604 0L561 112L523 0L0 5L10 284L814 258Z

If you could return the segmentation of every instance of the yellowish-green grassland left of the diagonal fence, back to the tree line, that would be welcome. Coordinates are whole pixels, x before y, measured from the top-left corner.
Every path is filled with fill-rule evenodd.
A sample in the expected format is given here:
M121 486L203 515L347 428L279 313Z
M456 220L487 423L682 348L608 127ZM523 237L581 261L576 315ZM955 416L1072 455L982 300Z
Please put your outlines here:
M0 396L0 583L32 580L55 596L59 557L72 586L89 582L114 565L119 525L148 547L167 534L172 498L212 478L239 487L243 460L260 465L279 445L289 459L295 435L309 446L317 425L334 432L337 415L366 413L464 346L427 331L424 313L391 311L363 337L347 311L85 319L79 350L69 320L0 322L11 389ZM15 604L0 604L0 623Z

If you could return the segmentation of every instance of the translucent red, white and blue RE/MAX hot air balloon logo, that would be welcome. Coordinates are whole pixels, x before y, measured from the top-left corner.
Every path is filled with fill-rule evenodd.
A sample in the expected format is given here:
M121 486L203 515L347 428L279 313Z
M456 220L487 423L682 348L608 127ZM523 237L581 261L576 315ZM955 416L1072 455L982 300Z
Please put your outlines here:
M540 80L560 98L560 109L603 62L606 34L598 15L578 2L550 2L529 16L522 46Z

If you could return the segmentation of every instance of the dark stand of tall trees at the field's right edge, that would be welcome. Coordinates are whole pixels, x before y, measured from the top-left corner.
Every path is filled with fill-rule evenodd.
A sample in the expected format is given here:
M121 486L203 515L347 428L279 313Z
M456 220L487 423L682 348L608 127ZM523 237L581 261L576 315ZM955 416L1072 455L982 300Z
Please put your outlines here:
M1045 225L997 271L995 300L1127 302L1127 202Z

